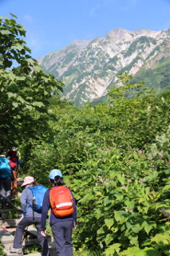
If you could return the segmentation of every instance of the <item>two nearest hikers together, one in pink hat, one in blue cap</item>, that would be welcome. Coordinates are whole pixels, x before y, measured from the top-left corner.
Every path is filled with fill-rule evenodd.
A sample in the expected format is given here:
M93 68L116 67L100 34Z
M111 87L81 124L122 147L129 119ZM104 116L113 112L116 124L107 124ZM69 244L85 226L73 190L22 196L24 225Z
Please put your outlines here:
M22 183L22 218L14 235L14 244L10 253L23 254L22 237L27 226L34 225L38 232L38 242L42 246L42 256L49 256L46 238L46 219L53 232L57 256L73 256L72 231L77 224L77 206L73 193L64 186L61 170L49 172L51 187L38 185L34 177L27 176ZM50 215L48 217L48 212Z

